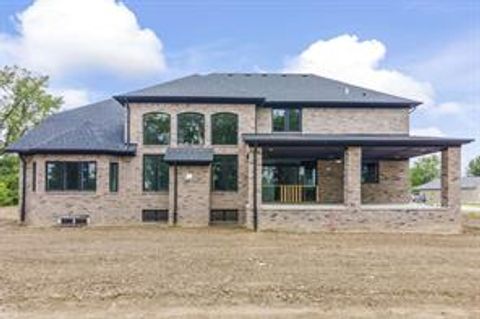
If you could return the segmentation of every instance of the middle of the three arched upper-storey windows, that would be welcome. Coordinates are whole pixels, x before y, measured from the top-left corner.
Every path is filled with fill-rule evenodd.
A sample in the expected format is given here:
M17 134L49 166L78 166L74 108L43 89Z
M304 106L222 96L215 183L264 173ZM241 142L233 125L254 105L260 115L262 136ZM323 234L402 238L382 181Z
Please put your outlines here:
M203 144L205 139L205 117L199 113L178 115L178 143Z

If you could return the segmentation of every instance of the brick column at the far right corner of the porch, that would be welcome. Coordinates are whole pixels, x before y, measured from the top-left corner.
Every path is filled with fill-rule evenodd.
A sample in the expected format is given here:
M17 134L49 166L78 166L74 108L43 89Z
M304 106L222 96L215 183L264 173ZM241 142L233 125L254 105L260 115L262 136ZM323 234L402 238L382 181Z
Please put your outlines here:
M442 206L460 213L461 148L449 147L442 151Z

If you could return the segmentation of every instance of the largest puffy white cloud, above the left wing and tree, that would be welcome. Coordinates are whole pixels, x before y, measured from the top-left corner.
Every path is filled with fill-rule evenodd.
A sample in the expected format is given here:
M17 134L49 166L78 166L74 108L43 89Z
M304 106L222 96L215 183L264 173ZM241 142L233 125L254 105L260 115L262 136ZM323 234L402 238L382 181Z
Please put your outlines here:
M36 0L0 34L0 60L61 76L101 71L140 76L165 70L162 43L115 0Z

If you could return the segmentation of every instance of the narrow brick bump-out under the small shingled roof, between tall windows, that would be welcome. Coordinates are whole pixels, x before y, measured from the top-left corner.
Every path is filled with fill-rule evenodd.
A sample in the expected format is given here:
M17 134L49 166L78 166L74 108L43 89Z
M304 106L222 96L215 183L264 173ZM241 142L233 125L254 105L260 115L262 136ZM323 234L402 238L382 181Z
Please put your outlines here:
M210 165L178 166L177 215L182 226L208 226Z

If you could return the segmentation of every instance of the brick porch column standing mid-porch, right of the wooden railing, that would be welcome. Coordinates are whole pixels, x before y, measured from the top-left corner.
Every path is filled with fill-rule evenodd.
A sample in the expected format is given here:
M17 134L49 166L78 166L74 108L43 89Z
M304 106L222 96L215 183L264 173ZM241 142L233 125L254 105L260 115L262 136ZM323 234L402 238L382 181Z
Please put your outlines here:
M361 170L362 149L350 146L345 149L343 171L343 199L347 207L359 209L362 203Z

